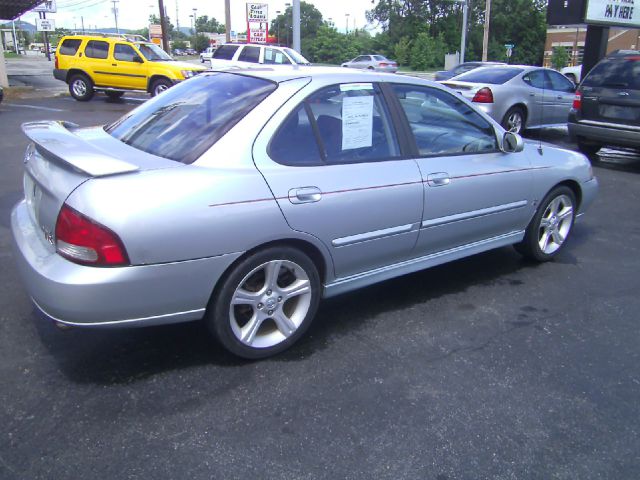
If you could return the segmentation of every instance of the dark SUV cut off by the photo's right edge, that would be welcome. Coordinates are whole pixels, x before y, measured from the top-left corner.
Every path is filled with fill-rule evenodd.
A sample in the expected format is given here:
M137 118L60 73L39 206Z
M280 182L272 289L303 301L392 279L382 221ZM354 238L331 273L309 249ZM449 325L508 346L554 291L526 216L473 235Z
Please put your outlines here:
M604 145L640 149L640 52L621 50L584 78L569 113L569 135L582 153Z

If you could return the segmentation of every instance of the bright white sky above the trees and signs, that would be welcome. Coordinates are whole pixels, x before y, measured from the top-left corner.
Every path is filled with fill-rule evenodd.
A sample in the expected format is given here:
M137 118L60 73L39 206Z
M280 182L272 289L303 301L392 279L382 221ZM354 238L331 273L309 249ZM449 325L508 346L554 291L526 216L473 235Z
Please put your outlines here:
M372 0L306 0L313 4L325 20L332 19L336 28L344 32L349 22L349 30L363 28L367 25L365 12L374 7ZM266 3L269 11L269 21L276 17L276 11L284 11L285 3L292 0L262 0L255 3ZM193 9L197 16L208 15L224 23L224 0L164 0L165 9L176 25L176 3L178 6L178 20L181 27L191 26ZM232 30L243 32L246 30L246 1L231 0ZM377 3L377 0L376 0ZM57 13L47 14L53 18L56 27L80 29L84 20L85 28L115 27L112 13L113 2L110 0L57 0ZM149 15L158 14L158 0L121 0L117 2L118 26L125 29L139 29L147 26ZM348 16L347 16L348 15ZM36 13L26 13L22 19L35 24ZM82 18L81 18L82 17ZM374 26L370 26L373 28Z

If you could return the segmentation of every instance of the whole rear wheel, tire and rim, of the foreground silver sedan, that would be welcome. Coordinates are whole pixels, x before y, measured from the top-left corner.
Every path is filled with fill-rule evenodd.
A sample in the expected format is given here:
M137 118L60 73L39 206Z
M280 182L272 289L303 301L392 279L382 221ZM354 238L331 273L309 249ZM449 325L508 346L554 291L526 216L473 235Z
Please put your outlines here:
M293 345L320 302L320 276L304 253L272 247L250 255L222 280L205 321L224 348L248 359Z

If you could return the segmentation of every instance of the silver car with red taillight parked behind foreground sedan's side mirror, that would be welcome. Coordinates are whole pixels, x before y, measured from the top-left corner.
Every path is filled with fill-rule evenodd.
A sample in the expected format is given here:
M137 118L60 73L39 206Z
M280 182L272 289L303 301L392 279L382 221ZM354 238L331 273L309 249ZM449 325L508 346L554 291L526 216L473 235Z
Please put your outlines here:
M526 65L477 68L442 84L515 133L566 125L576 91L555 70Z

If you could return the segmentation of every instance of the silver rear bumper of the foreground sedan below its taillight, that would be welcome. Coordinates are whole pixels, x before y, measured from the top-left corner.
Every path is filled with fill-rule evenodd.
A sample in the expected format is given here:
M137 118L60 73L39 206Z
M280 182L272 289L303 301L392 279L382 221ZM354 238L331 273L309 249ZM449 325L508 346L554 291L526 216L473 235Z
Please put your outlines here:
M44 242L20 202L11 213L18 270L36 306L58 322L85 327L197 320L218 279L240 253L117 268L69 262Z

